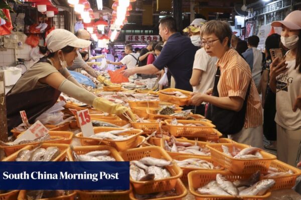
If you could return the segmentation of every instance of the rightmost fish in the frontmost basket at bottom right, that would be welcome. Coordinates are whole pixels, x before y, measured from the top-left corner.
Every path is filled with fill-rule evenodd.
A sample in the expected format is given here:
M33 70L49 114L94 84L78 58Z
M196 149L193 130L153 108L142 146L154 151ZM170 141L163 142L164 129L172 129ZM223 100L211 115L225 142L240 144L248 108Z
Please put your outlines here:
M275 180L273 179L263 179L255 183L254 185L242 190L239 192L239 195L263 195L266 190L271 188L275 184Z

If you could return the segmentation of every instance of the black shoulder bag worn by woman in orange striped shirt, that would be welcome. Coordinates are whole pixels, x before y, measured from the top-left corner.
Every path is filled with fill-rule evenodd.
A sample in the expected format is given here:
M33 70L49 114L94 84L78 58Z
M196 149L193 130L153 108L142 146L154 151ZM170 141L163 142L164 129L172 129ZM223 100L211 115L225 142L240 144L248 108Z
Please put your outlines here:
M213 86L213 96L219 96L217 90L217 84L220 78L220 67L217 67L214 86ZM252 79L251 79L252 80ZM212 120L212 123L216 125L216 128L223 133L227 134L235 134L238 133L244 125L246 109L247 109L247 100L250 93L251 81L248 86L248 90L242 105L242 108L237 112L230 109L224 109L221 107L217 107L211 103L209 103L206 117Z

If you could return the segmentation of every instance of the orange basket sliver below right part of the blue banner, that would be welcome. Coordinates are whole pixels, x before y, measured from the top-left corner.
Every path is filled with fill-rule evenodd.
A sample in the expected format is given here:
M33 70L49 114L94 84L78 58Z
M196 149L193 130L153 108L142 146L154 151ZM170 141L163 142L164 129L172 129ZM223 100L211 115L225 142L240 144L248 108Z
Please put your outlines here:
M124 191L106 191L106 192L76 190L80 199L85 199L85 200L118 200L118 199L128 200L129 199L128 194L130 193L130 191L131 191L130 189Z

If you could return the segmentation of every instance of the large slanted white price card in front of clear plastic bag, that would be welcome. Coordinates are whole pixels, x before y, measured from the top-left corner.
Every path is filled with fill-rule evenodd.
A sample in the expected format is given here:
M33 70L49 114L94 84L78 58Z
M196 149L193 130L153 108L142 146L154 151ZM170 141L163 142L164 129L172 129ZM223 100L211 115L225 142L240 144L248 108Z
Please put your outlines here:
M22 133L14 142L19 143L22 140L34 140L48 134L48 132L49 130L38 120L24 133Z

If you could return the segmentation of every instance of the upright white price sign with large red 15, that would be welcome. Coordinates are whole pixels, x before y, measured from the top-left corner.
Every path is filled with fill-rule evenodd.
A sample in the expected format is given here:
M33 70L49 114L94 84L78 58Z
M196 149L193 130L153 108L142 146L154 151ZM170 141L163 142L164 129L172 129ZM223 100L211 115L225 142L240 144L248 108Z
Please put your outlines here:
M80 129L82 130L83 136L89 137L94 134L92 121L88 109L83 109L77 111L77 117L80 124Z

